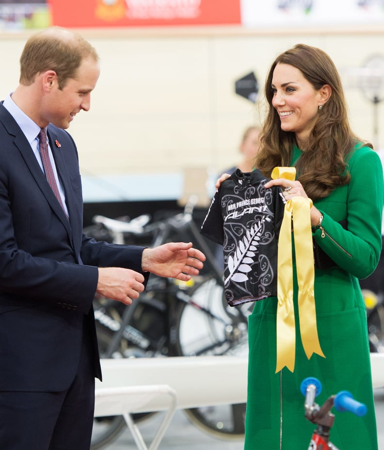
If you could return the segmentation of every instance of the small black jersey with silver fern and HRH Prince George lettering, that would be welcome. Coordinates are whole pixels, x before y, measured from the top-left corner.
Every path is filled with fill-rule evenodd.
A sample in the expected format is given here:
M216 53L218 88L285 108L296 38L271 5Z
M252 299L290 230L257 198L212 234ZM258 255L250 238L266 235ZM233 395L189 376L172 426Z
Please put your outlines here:
M216 191L201 233L223 245L224 294L229 305L277 295L277 238L285 200L256 169L237 169Z

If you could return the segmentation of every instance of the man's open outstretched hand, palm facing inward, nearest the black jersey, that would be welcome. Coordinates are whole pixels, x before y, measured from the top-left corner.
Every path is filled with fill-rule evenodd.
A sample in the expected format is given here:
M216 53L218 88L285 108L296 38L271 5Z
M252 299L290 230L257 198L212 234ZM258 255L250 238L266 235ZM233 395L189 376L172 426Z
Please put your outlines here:
M188 281L203 268L204 253L192 247L192 242L168 242L146 248L142 255L143 271L159 276Z

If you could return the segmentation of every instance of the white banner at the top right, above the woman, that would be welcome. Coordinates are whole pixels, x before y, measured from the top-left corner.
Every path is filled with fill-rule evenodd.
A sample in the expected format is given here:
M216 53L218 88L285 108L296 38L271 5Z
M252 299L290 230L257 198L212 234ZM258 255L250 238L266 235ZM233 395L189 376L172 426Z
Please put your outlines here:
M240 0L249 28L384 25L384 0Z

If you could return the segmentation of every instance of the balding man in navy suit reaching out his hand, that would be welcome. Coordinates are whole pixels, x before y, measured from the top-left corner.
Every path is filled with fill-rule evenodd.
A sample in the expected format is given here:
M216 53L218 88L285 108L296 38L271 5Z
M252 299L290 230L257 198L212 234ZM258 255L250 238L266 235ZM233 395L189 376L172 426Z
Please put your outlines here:
M149 273L188 280L205 260L192 243L119 246L82 233L78 154L65 129L89 110L98 76L87 41L49 28L27 41L19 85L0 104L0 449L89 449L101 379L95 293L129 305Z

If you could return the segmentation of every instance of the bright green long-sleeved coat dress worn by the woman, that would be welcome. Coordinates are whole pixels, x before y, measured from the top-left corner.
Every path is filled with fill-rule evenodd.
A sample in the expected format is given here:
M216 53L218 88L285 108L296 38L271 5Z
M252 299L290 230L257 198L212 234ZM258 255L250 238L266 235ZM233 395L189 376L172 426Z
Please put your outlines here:
M300 157L295 147L292 165ZM335 261L326 270L315 269L315 301L319 340L325 358L308 360L302 346L294 273L296 360L291 373L276 368L277 298L255 303L249 318L248 399L245 450L306 450L315 425L304 418L300 384L316 377L322 392L320 405L340 390L368 407L363 418L350 412L335 413L330 440L340 450L377 450L377 430L372 393L367 317L358 279L375 269L382 246L383 169L379 156L356 145L348 159L351 181L327 198L315 202L324 215L319 245ZM348 220L348 230L338 222ZM332 238L332 239L331 239Z

